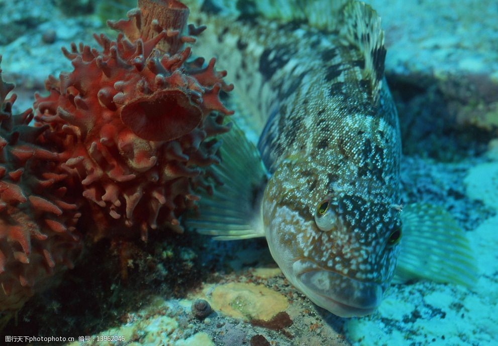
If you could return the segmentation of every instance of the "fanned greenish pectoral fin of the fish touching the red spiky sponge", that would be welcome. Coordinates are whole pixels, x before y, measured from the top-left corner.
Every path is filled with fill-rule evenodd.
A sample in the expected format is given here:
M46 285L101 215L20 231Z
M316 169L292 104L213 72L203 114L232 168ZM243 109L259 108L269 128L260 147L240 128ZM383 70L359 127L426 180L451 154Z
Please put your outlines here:
M184 223L216 240L264 237L261 198L268 176L259 152L237 126L221 140L221 163L213 173L223 185L215 186L213 194L196 192L201 200Z

